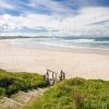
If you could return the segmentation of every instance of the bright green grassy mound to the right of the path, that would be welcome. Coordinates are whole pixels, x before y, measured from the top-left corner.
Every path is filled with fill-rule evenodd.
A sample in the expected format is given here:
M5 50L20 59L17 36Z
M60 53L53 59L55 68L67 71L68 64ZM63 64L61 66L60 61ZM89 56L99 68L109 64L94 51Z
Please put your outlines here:
M65 80L50 87L25 109L109 109L109 82Z

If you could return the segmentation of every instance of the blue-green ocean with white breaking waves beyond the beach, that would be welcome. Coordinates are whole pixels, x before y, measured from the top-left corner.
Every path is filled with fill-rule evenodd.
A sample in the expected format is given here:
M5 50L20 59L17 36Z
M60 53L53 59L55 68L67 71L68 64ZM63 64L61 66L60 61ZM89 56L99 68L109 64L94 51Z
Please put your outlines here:
M7 43L20 47L61 47L109 49L109 37L34 37L5 39Z

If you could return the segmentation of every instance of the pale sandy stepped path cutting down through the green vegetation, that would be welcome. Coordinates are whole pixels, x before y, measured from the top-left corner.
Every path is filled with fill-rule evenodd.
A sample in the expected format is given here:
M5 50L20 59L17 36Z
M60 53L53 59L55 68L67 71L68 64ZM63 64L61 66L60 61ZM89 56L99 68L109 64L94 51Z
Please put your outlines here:
M48 88L38 88L34 90L19 92L11 98L3 97L0 99L0 109L23 109L27 104L41 96Z

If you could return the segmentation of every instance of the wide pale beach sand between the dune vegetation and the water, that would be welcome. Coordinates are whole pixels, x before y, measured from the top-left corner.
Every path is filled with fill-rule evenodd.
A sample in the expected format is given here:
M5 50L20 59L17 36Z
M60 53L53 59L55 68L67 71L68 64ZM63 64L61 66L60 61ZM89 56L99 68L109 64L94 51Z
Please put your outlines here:
M62 48L21 48L0 40L0 69L45 74L47 70L66 77L109 80L109 51Z

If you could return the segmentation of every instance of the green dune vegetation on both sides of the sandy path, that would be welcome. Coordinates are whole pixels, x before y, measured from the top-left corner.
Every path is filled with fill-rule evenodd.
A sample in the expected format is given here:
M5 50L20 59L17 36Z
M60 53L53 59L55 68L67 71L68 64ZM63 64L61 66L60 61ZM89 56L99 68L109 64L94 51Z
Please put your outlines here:
M44 88L44 76L27 72L0 70L0 97L19 90ZM11 98L12 99L12 98ZM22 107L24 109L109 109L109 81L70 78L48 87L46 93Z

